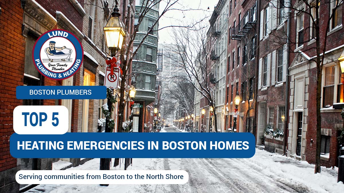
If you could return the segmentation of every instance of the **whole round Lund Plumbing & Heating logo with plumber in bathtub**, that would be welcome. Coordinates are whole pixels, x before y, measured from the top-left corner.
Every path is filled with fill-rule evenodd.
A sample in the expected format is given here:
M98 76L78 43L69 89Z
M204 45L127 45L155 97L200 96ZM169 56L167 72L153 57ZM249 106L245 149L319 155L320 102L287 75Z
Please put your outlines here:
M66 30L42 34L32 50L37 70L45 77L63 80L74 75L83 61L84 51L78 38Z

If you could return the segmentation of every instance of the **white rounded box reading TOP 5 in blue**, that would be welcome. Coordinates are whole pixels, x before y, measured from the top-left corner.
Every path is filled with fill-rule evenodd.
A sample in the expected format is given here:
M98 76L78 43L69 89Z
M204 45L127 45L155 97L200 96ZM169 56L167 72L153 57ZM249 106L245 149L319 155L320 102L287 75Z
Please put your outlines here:
M68 120L65 106L21 105L13 110L13 129L17 134L65 134Z

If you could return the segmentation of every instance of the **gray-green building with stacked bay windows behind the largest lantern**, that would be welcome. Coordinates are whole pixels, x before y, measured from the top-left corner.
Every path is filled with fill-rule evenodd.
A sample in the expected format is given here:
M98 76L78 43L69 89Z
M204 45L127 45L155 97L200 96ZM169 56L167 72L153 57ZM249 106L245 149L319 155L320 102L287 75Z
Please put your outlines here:
M136 12L146 9L143 5L144 0L136 0ZM138 24L138 15L135 15L136 26ZM155 4L149 13L145 14L142 22L138 27L136 39L133 43L133 51L139 49L132 62L132 72L134 74L132 81L135 82L136 96L133 114L133 132L145 132L143 128L151 127L153 117L153 102L156 102L156 79L158 68L158 20L159 3ZM147 32L153 28L148 34L143 44L138 48ZM145 127L147 124L148 127Z

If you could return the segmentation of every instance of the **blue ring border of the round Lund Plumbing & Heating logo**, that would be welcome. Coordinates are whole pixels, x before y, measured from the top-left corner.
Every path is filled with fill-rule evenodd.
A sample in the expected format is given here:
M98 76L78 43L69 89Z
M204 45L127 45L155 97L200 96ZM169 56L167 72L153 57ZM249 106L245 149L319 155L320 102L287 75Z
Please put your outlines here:
M72 65L71 68L69 69L72 69L75 65L79 65L77 67L77 69L71 73L70 75L67 75L67 76L63 76L63 73L65 72L52 72L54 74L56 74L56 78L55 77L52 77L52 76L48 76L48 75L45 75L40 69L38 66L42 65L42 68L41 69L45 69L46 71L50 71L48 70L42 63L41 61L41 49L42 49L42 46L43 44L49 40L50 38L53 38L53 37L49 37L48 33L50 32L53 32L53 31L63 31L63 32L67 32L68 33L68 36L67 37L63 37L63 36L60 36L60 35L57 35L57 36L53 36L53 37L63 37L63 38L66 38L68 39L74 46L75 48L75 60L74 60L74 64ZM35 42L35 45L33 46L33 49L32 49L32 60L33 60L33 63L36 67L36 69L41 73L41 75L49 78L49 79L52 79L52 80L64 80L64 79L67 79L71 76L73 76L79 69L80 69L80 66L83 64L83 60L84 60L84 50L83 50L83 47L82 47L82 44L80 43L79 39L74 35L72 34L71 32L67 31L67 30L62 30L62 29L58 29L58 30L50 30L50 31L47 31L45 32L44 34L42 34L38 39L37 41ZM39 61L36 61L36 60L39 60ZM77 61L80 60L80 63L77 63ZM61 77L59 77L59 75L61 75Z

